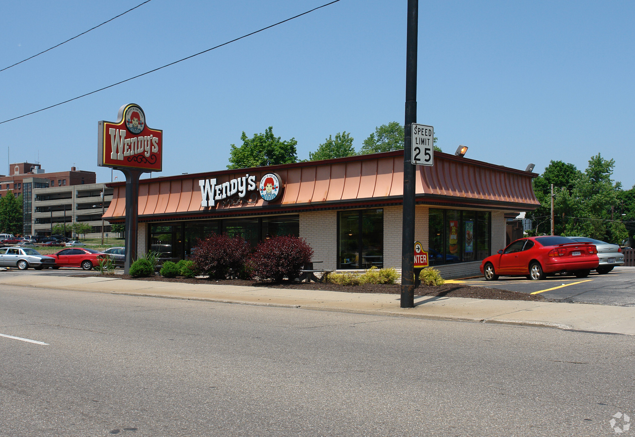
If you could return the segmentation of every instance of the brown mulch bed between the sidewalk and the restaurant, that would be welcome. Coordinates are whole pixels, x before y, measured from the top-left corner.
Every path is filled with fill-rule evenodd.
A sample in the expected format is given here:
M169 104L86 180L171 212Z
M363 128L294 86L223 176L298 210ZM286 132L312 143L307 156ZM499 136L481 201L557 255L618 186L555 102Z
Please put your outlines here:
M346 293L387 293L400 294L401 286L397 284L364 284L364 285L338 285L332 283L304 283L295 281L284 281L282 283L268 283L245 281L244 279L201 279L201 278L163 278L162 276L152 276L150 278L132 278L127 274L77 274L76 278L88 278L89 276L105 276L107 278L133 279L135 281L162 281L178 282L185 284L214 284L214 285L242 285L269 288L290 288L291 290L324 290L328 292ZM436 297L471 297L473 299L498 299L498 300L534 300L544 302L547 299L540 295L530 295L527 293L512 292L510 290L499 290L498 288L475 287L462 284L445 284L437 286L421 285L415 288L417 296Z

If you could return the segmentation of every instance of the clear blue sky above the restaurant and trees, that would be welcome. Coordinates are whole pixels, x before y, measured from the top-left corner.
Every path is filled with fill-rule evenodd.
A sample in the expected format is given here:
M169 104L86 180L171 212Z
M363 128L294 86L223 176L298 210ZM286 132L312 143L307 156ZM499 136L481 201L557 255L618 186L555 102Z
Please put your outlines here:
M141 3L0 3L0 68ZM0 72L0 121L76 97L326 3L152 0L44 55ZM635 3L420 2L418 123L438 145L513 168L551 159L581 170L598 152L635 184ZM137 103L163 129L162 175L223 170L229 145L273 126L308 158L351 132L404 118L405 0L342 0L126 84L0 124L11 162L97 172L97 122ZM115 172L121 179L121 173ZM155 173L156 174L156 173Z

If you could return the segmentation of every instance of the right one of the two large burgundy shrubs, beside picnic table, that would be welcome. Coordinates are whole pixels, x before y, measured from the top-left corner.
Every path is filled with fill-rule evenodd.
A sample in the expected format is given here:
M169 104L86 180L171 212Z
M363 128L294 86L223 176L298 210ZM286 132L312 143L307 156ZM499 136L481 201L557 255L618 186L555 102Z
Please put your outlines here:
M253 269L252 277L279 282L285 277L295 279L300 276L300 270L311 261L312 256L313 249L304 239L277 236L258 245L248 267Z

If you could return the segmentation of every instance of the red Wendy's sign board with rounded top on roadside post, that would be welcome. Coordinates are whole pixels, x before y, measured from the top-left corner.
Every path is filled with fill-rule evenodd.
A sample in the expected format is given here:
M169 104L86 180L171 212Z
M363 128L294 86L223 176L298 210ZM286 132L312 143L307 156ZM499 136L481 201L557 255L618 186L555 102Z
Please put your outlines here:
M98 123L97 165L161 171L163 166L163 130L150 129L139 105L123 105L119 121Z

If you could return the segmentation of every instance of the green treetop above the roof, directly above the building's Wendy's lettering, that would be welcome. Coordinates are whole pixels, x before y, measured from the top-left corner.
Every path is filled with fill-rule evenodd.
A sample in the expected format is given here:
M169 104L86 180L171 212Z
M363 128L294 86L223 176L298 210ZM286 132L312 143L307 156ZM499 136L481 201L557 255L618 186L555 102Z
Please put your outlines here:
M295 138L282 141L274 137L273 128L269 126L264 133L255 133L248 138L243 131L241 135L243 145L231 145L229 165L227 168L262 167L265 165L291 164L298 161Z

